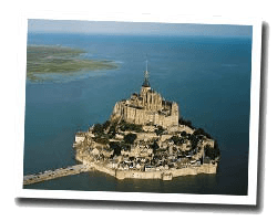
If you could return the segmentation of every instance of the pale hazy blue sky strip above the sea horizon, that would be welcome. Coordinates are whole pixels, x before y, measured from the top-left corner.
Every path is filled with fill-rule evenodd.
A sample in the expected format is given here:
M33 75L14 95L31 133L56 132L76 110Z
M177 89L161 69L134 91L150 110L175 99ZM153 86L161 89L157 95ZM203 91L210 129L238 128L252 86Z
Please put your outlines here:
M252 25L29 19L37 33L252 36Z

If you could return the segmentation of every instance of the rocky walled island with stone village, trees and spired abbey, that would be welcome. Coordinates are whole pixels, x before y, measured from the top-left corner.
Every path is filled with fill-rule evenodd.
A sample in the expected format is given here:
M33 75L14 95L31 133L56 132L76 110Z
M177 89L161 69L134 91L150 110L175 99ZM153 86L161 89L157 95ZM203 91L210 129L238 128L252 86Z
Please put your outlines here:
M216 140L179 116L178 104L150 86L148 71L140 93L114 105L110 119L78 131L75 159L90 170L116 179L162 179L216 173Z

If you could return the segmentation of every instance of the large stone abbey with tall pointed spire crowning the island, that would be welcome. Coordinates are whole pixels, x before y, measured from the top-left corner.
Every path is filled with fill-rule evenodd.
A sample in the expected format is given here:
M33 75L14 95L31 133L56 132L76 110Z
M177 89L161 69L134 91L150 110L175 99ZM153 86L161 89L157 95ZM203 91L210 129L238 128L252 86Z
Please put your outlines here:
M144 72L141 93L133 93L131 98L117 102L111 115L111 120L125 120L138 125L157 125L164 128L178 125L178 105L164 101L153 91L148 82L148 71Z

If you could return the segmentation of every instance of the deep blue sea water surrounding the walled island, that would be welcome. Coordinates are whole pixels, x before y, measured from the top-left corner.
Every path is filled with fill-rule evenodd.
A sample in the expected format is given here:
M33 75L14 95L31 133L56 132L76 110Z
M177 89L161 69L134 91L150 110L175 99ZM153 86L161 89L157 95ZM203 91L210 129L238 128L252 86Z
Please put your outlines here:
M105 122L114 104L140 92L148 60L150 83L179 105L185 119L217 141L216 175L162 180L116 180L93 171L25 186L28 189L247 194L252 39L244 36L141 36L29 33L28 44L86 51L119 69L84 71L25 88L24 175L75 165L78 130Z

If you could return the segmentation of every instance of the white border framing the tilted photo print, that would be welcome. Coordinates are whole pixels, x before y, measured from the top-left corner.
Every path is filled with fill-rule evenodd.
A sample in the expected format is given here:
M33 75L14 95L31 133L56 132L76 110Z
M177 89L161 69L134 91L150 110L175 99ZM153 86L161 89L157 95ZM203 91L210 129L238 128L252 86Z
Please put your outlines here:
M23 189L23 147L24 147L24 112L25 112L25 66L27 35L29 19L82 20L82 21L123 21L123 22L162 22L162 23L202 23L235 24L253 27L252 49L252 85L250 85L250 120L249 120L249 156L248 156L248 194L187 194L187 193L145 193L145 192L110 192L110 191L69 191L69 190L31 190ZM259 95L261 63L261 19L245 17L198 17L198 15L152 15L124 13L90 12L54 12L54 11L19 11L18 19L18 61L17 92L14 116L14 160L13 160L13 197L44 199L81 199L112 201L147 201L147 202L188 202L212 204L249 204L257 203L257 168L259 138Z

